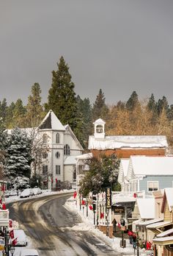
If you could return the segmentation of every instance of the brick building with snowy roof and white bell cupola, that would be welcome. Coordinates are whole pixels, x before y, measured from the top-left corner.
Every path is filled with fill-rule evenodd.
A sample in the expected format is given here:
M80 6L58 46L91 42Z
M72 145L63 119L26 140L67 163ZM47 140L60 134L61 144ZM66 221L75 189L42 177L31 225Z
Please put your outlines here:
M120 158L129 158L130 155L166 155L168 143L162 135L106 135L105 124L101 118L95 123L95 133L89 136L88 149L93 156L100 154L117 154Z

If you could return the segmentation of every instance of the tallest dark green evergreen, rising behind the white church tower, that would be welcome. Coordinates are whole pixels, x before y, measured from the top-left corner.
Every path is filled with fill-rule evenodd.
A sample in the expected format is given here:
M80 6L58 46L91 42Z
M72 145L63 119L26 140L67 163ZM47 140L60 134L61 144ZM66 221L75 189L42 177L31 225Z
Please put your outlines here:
M62 124L69 124L80 140L82 130L81 113L78 111L75 85L71 81L69 67L63 57L60 58L57 71L52 71L52 84L45 110L53 110Z

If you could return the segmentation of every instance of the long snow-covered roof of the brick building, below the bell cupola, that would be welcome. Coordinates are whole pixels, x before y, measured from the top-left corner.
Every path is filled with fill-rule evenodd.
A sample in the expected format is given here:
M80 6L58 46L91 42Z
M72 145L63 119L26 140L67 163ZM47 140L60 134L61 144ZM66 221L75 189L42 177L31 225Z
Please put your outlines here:
M88 149L151 149L167 146L166 136L105 136L100 139L92 135L89 136Z

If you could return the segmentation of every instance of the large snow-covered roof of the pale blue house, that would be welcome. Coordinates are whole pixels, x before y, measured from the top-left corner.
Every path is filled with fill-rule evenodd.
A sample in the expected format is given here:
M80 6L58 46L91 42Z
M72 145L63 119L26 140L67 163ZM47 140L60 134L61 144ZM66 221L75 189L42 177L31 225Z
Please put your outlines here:
M135 176L173 175L173 157L131 156L128 166L128 179Z

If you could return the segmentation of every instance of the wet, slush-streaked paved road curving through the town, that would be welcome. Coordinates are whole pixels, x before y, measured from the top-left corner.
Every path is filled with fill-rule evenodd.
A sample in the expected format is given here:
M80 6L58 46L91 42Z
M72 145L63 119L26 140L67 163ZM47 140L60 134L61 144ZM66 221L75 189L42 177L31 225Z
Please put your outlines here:
M56 194L11 203L10 218L21 224L42 256L120 256L92 232L73 230L81 218L63 206L69 197Z

